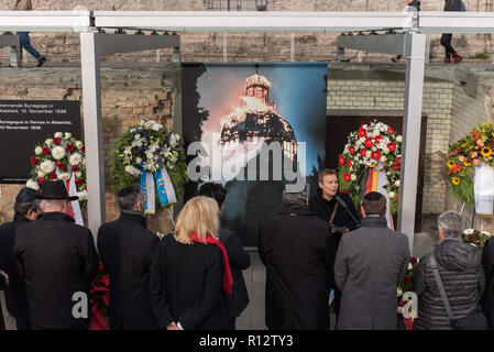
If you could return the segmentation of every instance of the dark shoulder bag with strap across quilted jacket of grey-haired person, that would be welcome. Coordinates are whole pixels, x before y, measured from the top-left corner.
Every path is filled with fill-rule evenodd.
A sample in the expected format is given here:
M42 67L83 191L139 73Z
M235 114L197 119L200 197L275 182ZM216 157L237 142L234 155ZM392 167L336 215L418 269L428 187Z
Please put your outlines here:
M451 328L453 330L488 330L487 319L481 310L464 318L454 318L449 305L448 296L446 296L444 286L442 286L441 276L439 275L438 264L433 253L430 255L430 266L432 267L433 278L438 285L439 293L441 294L446 311L448 312L448 318L451 321Z

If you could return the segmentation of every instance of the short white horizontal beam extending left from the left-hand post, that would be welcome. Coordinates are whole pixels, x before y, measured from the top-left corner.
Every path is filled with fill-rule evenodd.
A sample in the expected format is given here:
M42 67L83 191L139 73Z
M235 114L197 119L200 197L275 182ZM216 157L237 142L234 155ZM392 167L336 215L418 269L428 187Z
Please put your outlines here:
M84 32L90 11L0 11L0 31Z

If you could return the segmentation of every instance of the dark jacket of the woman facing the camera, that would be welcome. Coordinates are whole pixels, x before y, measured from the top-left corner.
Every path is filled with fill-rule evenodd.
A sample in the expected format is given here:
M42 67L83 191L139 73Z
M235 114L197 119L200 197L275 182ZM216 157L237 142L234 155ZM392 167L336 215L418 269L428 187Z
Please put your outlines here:
M350 212L353 213L355 219L360 220L350 195L345 193L338 193L337 195L340 196L340 198L347 204ZM318 218L329 223L329 219L331 218L331 213L337 202L338 201L334 198L332 198L331 200L326 200L325 198L322 198L322 193L319 188L317 195L309 199L309 210ZM355 221L352 220L348 211L341 205L338 206L332 224L336 228L348 228L350 231L353 231L358 228ZM334 239L337 241L337 245L339 245L341 233L334 233Z

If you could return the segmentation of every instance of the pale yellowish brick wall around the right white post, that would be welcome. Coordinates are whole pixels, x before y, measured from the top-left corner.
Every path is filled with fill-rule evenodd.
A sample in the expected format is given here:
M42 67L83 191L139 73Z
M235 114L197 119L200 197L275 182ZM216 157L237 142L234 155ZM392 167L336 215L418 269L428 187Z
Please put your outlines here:
M342 66L333 64L330 67ZM355 64L353 69L367 70L369 66ZM348 66L345 70L354 75ZM435 153L448 152L452 87L452 82L438 79L426 79L424 84L422 111L427 114L424 213L440 213L446 207L447 185L441 176L442 163ZM404 79L332 79L331 69L328 75L328 109L403 110L404 97Z

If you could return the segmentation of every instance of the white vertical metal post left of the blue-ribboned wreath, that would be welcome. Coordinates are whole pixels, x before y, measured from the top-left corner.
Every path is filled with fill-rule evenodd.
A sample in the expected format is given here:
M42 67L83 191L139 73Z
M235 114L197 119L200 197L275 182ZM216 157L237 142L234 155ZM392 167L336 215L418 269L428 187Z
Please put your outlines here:
M80 33L84 136L88 186L88 227L95 238L105 222L105 161L101 119L101 84L97 33Z

